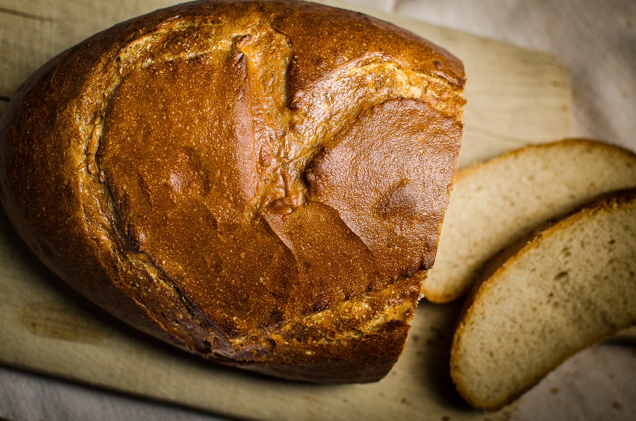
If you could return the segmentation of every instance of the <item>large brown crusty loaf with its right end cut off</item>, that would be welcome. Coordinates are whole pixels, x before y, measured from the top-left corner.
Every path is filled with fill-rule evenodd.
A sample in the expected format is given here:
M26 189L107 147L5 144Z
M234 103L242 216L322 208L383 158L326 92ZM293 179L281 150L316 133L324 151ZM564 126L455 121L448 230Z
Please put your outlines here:
M359 13L186 3L25 82L1 198L79 292L215 361L371 382L403 349L462 134L459 60Z

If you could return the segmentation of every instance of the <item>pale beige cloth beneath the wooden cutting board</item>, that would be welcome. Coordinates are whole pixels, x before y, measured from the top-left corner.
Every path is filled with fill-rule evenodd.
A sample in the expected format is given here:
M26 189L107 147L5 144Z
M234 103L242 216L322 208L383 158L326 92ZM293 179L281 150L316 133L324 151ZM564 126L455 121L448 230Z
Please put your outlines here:
M571 75L574 134L636 150L633 0L348 1L550 53ZM513 420L634 420L635 398L636 347L605 343L575 355L523 396ZM0 417L225 419L1 367Z

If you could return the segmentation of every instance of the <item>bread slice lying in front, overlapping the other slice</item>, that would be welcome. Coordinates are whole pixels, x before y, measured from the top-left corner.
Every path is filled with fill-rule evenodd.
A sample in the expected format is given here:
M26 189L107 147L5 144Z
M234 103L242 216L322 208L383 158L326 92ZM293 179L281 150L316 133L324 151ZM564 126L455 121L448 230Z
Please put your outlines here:
M467 303L451 375L473 406L501 408L567 357L636 324L636 189L540 231Z

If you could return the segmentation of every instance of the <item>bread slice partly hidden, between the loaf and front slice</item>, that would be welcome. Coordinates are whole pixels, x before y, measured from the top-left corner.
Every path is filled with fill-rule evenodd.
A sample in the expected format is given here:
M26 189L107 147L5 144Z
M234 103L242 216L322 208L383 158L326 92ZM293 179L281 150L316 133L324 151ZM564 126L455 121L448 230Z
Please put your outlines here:
M528 146L461 170L422 293L436 303L459 298L507 244L597 195L632 186L634 153L584 139Z

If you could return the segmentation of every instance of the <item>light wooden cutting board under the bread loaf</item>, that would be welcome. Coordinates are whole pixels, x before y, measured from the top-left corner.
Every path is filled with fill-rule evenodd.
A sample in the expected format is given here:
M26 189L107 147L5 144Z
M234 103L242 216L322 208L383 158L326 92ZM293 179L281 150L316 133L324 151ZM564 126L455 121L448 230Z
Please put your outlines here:
M170 3L0 0L0 113L20 83L46 60L94 32ZM357 6L356 10L420 34L464 60L468 102L461 166L570 135L568 78L551 57ZM460 305L422 302L404 354L380 382L284 382L216 366L114 320L41 265L0 213L0 362L232 417L506 419L512 406L497 413L471 410L453 389L448 355Z

